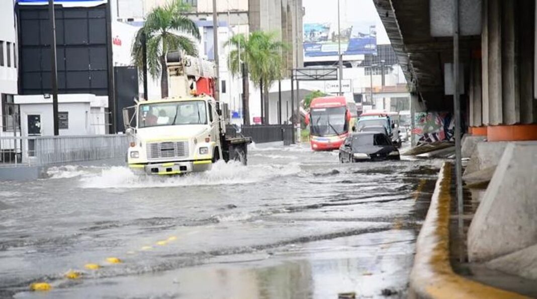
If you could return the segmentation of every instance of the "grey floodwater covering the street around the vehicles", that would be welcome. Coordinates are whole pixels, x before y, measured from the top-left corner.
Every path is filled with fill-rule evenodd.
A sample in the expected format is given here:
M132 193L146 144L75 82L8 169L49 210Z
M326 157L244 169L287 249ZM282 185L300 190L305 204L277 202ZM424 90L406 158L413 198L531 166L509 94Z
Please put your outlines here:
M118 165L0 181L0 297L405 297L441 161L265 144L184 177Z

